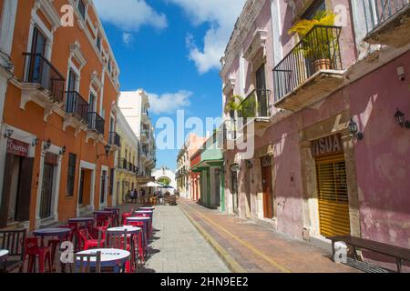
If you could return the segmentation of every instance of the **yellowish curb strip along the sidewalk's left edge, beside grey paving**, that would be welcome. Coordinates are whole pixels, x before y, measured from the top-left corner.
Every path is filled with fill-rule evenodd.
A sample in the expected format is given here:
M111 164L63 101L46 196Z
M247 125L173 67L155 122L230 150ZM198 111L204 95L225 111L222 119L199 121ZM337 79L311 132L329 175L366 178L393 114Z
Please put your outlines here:
M200 226L193 218L190 216L187 211L182 207L179 206L179 209L183 212L185 216L190 220L190 223L195 226L200 232L200 235L212 246L215 252L220 256L220 258L224 261L226 266L233 272L233 273L248 273L235 259L228 254L228 252L220 246L220 244L210 236L210 233L207 232L202 226Z

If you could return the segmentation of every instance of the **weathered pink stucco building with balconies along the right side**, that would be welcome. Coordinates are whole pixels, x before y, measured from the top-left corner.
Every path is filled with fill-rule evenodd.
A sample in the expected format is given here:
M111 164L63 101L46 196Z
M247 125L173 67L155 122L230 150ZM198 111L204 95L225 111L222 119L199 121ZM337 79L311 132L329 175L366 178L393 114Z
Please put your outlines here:
M323 246L352 235L410 248L410 130L395 120L410 118L410 5L387 2L246 2L221 59L223 103L242 105L223 113L228 213ZM334 25L288 33L319 11ZM244 128L251 157L227 146Z

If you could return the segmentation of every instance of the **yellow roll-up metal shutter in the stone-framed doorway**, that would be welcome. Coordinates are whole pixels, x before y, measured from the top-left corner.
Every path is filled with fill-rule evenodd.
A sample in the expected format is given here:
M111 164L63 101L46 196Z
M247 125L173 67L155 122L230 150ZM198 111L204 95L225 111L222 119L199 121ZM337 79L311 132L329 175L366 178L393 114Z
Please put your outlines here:
M319 221L322 236L350 235L344 156L316 158Z

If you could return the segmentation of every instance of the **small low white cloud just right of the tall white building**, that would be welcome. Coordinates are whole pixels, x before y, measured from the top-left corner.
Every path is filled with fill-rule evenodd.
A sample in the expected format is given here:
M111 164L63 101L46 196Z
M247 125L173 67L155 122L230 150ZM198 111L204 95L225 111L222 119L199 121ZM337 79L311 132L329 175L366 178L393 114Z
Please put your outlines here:
M165 93L162 95L147 93L147 95L149 95L150 110L159 115L174 113L179 109L190 106L192 92L179 90L177 93Z

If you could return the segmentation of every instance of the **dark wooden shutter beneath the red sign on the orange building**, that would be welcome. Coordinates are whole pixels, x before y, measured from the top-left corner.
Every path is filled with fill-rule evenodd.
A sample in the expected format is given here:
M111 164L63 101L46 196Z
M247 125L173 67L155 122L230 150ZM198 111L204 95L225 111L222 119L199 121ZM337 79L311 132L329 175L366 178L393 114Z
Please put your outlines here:
M20 168L20 186L17 194L17 211L15 219L17 221L27 221L30 219L31 185L33 179L34 157L22 159Z

